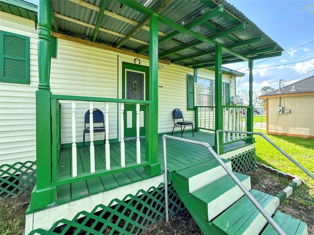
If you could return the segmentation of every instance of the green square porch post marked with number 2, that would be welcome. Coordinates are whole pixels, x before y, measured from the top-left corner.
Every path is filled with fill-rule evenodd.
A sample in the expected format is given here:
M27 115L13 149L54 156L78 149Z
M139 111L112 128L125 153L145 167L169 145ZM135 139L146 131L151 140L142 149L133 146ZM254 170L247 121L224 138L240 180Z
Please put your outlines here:
M223 129L223 108L222 108L222 47L215 46L215 130ZM219 132L219 154L224 152L224 147L220 146L222 143L222 132ZM213 149L217 152L217 137L215 135L215 145Z

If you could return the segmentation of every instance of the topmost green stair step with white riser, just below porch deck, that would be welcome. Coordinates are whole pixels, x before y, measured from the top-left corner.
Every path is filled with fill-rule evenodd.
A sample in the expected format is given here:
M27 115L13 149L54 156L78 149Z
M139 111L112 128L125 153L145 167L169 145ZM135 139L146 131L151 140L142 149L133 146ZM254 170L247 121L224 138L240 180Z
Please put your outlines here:
M231 161L222 159L225 164L232 170ZM214 182L215 180L227 175L227 172L216 161L210 159L209 161L192 167L177 171L176 174L187 181L187 192L191 193L199 188Z

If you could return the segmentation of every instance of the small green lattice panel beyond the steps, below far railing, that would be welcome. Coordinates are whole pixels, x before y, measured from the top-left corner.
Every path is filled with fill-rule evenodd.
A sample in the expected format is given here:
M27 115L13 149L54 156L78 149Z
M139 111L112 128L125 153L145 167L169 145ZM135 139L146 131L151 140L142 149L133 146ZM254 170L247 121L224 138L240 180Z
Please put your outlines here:
M232 163L232 170L242 174L256 169L255 148L242 152L234 157L228 158Z

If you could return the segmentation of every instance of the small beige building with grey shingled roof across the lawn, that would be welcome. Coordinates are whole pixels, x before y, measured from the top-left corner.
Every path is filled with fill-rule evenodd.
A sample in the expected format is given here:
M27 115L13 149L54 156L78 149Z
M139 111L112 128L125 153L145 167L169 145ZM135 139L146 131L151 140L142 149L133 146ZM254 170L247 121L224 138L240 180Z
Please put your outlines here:
M268 134L314 138L314 76L260 96Z

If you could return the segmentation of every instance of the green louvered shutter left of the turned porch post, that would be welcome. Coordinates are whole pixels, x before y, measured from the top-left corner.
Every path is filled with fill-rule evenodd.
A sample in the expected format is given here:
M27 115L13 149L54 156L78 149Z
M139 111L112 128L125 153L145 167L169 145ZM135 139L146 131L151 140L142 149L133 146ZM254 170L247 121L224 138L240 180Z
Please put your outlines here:
M0 31L0 81L29 84L29 37Z

